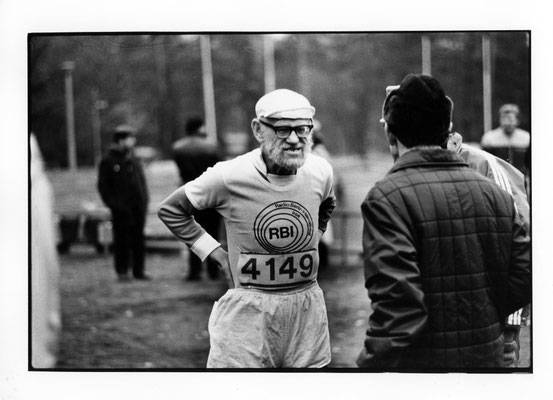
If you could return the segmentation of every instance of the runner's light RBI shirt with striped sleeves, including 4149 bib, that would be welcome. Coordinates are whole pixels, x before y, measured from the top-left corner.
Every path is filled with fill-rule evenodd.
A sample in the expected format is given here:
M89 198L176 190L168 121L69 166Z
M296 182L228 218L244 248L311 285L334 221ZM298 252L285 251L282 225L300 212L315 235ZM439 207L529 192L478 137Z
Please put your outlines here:
M313 154L295 175L270 175L256 149L217 163L176 190L159 217L205 259L220 244L193 212L216 209L225 220L235 287L296 288L317 278L318 241L336 204L332 177L330 164Z

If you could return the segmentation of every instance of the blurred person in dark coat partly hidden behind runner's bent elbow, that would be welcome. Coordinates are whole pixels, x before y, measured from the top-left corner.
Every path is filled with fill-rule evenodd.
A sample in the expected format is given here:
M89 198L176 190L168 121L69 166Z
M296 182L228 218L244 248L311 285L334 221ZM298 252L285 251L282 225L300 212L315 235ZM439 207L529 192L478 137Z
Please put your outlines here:
M214 166L223 158L219 148L207 140L204 120L192 117L186 122L186 137L173 144L173 157L179 169L182 184L193 181L206 169ZM194 214L195 220L215 239L219 238L221 216L214 209L198 210ZM202 260L192 252L189 252L190 270L187 280L201 279ZM208 259L207 273L211 279L219 275L219 267Z

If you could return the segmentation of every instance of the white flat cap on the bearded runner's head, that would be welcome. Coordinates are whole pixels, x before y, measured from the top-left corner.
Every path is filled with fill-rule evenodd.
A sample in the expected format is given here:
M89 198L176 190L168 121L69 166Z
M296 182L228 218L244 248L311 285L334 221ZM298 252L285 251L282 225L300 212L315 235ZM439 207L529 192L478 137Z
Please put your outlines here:
M299 93L277 89L267 93L255 105L257 118L307 119L315 115L315 107Z

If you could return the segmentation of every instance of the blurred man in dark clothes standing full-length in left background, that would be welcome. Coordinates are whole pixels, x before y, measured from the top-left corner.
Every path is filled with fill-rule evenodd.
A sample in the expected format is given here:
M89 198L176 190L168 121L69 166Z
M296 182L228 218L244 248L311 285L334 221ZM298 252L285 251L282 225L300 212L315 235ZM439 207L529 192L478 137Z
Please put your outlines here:
M148 210L148 188L144 170L134 156L134 128L121 125L113 133L113 145L100 162L98 190L111 210L115 272L120 281L127 275L132 257L132 274L145 280L144 225Z

